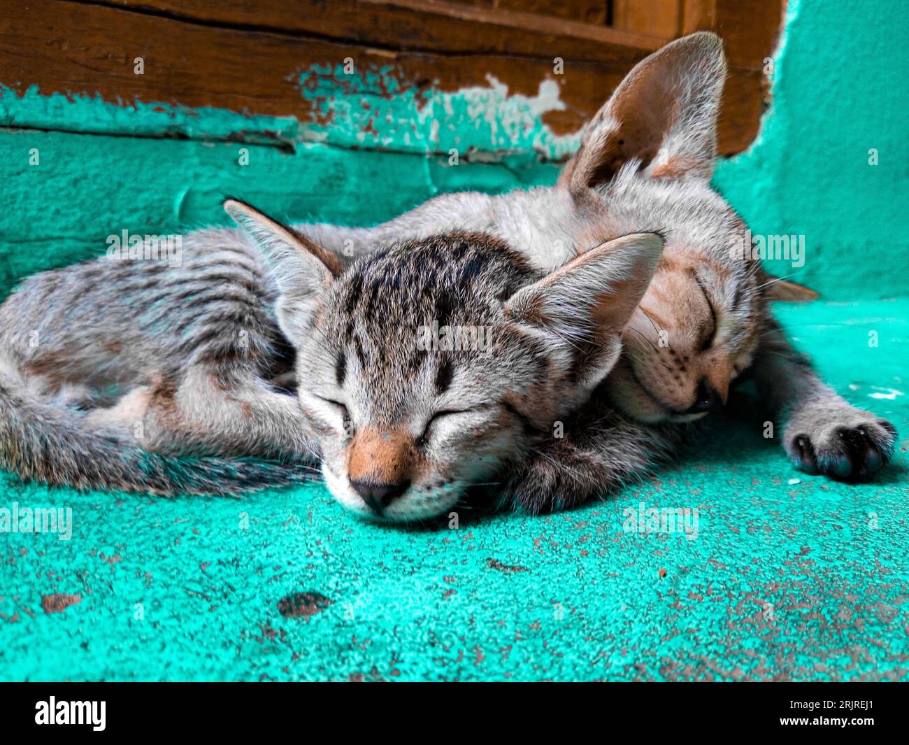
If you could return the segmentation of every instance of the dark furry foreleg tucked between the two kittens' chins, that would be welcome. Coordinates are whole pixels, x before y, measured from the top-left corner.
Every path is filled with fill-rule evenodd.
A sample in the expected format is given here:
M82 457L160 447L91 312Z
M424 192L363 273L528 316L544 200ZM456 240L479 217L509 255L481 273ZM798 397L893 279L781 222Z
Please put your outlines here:
M544 435L514 465L505 501L531 514L574 507L640 478L681 442L682 427L637 424L603 401L587 408L601 414L564 422L562 438Z

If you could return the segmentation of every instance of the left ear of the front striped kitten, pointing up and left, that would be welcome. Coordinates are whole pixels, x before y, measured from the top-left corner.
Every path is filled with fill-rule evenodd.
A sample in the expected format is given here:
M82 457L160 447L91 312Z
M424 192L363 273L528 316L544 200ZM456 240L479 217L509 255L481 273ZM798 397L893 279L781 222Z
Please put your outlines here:
M228 199L224 207L262 250L280 293L275 304L278 326L291 344L299 346L319 299L341 274L340 262L309 238L244 202Z

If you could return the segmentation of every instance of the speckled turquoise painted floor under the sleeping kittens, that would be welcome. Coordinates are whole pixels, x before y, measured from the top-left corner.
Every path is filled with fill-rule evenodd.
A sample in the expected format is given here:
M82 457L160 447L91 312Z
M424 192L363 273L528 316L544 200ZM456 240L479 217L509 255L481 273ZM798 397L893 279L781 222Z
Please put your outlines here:
M909 301L781 310L898 428L873 483L806 477L728 420L608 500L458 529L364 524L319 486L167 500L0 475L0 507L75 523L0 534L0 678L906 679ZM624 532L642 501L699 508L697 538Z

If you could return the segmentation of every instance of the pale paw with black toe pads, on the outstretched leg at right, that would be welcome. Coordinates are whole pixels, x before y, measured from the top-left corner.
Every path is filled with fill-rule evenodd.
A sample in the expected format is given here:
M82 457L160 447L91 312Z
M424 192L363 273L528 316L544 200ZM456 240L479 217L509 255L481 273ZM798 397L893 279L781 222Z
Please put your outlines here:
M818 405L794 416L784 442L795 468L807 474L861 479L893 457L896 430L859 408Z

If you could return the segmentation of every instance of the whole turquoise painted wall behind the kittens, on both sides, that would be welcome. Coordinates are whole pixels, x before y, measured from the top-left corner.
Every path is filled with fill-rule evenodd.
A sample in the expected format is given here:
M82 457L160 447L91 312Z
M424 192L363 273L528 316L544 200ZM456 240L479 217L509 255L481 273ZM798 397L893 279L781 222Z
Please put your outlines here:
M845 0L794 2L764 132L715 178L755 233L805 236L796 277L826 297L904 292L903 13L897 0L870 0L858 14ZM564 106L553 84L537 96L507 96L491 80L456 94L430 92L420 107L408 91L380 96L375 83L383 75L304 73L301 81L315 85L301 85L301 95L317 110L333 108L332 126L0 89L0 124L11 127L0 133L0 288L94 256L106 236L124 229L224 223L219 200L226 194L296 220L367 224L439 192L550 184L557 168L549 161L576 145L576 136L554 136L540 123L544 111ZM346 97L333 102L342 89ZM245 142L227 141L237 137ZM448 163L451 147L461 153L458 166ZM868 165L869 148L879 165Z

